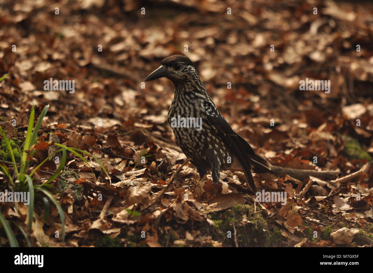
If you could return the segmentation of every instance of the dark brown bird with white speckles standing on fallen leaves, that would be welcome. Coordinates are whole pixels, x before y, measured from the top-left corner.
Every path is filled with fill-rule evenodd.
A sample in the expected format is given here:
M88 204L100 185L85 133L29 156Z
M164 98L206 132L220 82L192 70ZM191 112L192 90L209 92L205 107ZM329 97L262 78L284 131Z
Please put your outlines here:
M171 80L175 86L167 122L176 143L197 168L200 180L207 172L211 172L213 184L216 185L220 181L220 170L241 169L248 186L255 193L252 169L265 179L278 178L271 171L271 164L257 155L250 144L233 131L207 93L187 56L172 55L165 58L160 67L144 81L161 77Z

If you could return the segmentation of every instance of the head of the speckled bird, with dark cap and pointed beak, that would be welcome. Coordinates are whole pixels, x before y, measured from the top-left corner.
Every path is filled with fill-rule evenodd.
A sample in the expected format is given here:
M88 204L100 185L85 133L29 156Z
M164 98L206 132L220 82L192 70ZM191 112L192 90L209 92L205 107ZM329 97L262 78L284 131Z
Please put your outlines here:
M161 66L147 76L145 82L166 77L175 83L193 79L196 75L198 77L192 61L188 57L184 55L173 55L163 59Z

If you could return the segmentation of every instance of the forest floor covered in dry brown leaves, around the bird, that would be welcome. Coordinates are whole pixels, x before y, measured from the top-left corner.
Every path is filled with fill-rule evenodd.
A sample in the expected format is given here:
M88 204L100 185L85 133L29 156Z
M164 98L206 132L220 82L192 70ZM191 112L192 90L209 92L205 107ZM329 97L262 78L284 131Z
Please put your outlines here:
M28 173L53 143L89 155L68 150L49 183L65 241L55 238L59 212L53 204L48 212L43 194L35 195L31 229L27 206L0 200L19 245L27 241L14 223L33 246L372 246L371 2L33 2L0 4L0 77L9 73L0 82L0 125L19 158L33 105L36 118L50 105ZM285 205L257 202L242 172L221 172L217 185L210 175L199 181L167 125L172 83L142 83L173 54L192 60L258 154L319 174L254 175L258 191L286 193ZM46 91L51 78L74 80L75 89ZM300 90L306 78L330 80L330 92ZM12 171L3 140L0 159ZM45 162L34 185L60 164ZM0 172L0 191L7 189ZM0 238L8 244L4 232Z

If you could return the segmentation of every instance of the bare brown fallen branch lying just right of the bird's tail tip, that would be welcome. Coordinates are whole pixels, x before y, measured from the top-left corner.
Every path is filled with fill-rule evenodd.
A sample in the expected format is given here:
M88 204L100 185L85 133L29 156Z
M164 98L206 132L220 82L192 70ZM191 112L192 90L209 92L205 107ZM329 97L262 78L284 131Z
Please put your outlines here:
M310 176L322 178L323 180L336 179L339 171L316 171L316 170L303 170L303 169L292 169L284 168L280 166L271 166L271 170L277 175L290 175L291 177L299 180L310 178Z

